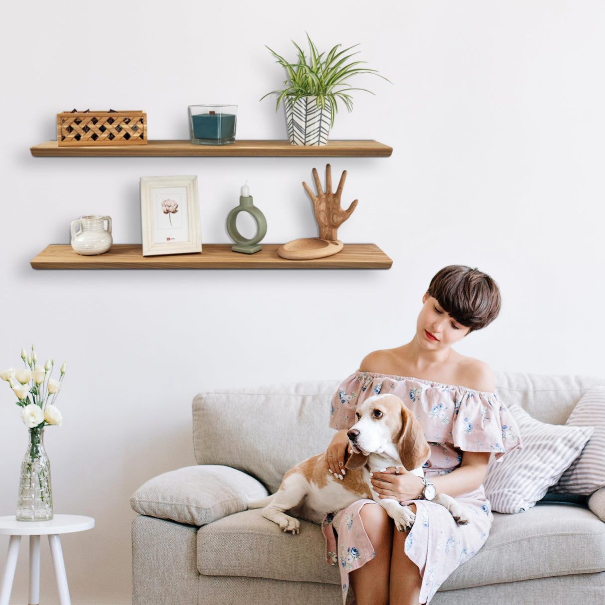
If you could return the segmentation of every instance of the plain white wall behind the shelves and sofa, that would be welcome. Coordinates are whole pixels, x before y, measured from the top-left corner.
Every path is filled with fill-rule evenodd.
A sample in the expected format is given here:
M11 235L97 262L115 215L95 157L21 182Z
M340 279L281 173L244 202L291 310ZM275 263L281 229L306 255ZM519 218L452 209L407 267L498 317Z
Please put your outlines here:
M68 360L48 428L56 512L96 518L63 540L74 603L130 600L128 498L194 463L198 391L344 377L365 353L411 338L436 270L491 273L503 309L459 347L497 370L601 374L604 298L605 5L597 0L13 2L2 54L0 367L21 347ZM359 198L345 242L374 242L387 271L36 271L84 214L108 214L116 243L140 242L139 177L197 174L202 237L227 243L247 179L265 241L315 235L301 181L322 159L39 159L57 111L140 108L151 139L186 139L193 103L238 103L241 139L283 139L263 94L292 53L361 42L393 85L358 84L333 139L376 139L389 159L332 160ZM2 385L0 385L2 387ZM0 515L15 511L27 431L0 389ZM0 565L5 546L0 543ZM48 547L42 600L57 602ZM27 599L27 544L12 601Z

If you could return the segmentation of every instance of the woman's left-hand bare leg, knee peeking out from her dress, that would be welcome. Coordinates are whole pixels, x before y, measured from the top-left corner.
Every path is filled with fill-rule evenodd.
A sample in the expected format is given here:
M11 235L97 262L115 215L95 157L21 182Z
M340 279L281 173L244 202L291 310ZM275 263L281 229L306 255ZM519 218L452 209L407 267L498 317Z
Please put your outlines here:
M365 533L376 557L350 573L357 605L388 605L388 583L393 548L393 520L378 504L365 504L359 511Z

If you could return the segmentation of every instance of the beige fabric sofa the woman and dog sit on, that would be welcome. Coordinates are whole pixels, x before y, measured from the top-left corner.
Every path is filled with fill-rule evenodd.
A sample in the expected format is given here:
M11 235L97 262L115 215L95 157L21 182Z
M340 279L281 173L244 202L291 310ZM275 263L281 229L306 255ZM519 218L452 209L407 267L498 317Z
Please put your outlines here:
M577 376L497 374L500 399L564 424L590 387ZM246 497L263 497L329 443L337 382L203 393L193 402L195 458L132 496L134 605L342 603L319 526L284 534ZM603 490L601 490L603 491ZM605 508L605 498L600 498ZM592 506L592 502L591 502ZM594 508L594 506L593 506ZM597 510L601 518L605 511ZM485 546L440 587L434 605L605 603L605 523L586 506L539 503L494 514Z

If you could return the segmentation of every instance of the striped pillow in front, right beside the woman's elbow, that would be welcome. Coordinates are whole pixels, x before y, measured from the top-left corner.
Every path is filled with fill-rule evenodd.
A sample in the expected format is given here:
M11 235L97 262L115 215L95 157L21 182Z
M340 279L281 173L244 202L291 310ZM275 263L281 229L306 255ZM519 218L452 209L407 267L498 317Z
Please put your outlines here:
M492 460L485 477L485 495L497 512L522 512L532 508L551 485L580 455L593 427L546 424L522 407L511 405L522 448Z

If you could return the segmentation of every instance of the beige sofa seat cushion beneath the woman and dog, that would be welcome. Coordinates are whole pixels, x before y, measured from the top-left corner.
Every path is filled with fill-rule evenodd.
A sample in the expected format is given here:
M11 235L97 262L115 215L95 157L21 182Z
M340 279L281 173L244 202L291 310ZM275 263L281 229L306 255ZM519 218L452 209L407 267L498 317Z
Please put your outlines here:
M197 568L203 575L339 584L325 562L321 528L301 522L284 534L260 509L200 528ZM442 590L605 570L605 523L586 508L538 505L523 515L494 514L483 548L446 580Z

